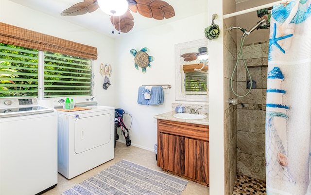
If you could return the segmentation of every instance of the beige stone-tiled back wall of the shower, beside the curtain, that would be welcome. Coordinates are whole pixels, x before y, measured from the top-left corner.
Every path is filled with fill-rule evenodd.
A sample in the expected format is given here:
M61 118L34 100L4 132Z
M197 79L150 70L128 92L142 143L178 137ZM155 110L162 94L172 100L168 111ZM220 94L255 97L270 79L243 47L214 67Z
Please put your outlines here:
M242 48L246 65L256 88L239 97L237 106L238 174L265 180L265 104L269 43L254 43ZM237 48L237 53L240 47ZM237 68L237 91L246 94L249 76L242 57Z

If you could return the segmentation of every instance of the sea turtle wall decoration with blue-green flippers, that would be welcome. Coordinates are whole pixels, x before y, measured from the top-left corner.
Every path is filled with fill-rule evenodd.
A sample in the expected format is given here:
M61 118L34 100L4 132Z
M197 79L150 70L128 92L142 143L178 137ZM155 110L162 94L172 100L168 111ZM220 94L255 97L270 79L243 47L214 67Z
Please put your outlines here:
M154 61L155 58L153 56L149 56L148 53L150 50L146 47L142 48L140 51L136 51L132 49L130 53L134 55L135 68L139 70L138 67L141 68L142 73L146 73L146 68L150 65L150 62Z

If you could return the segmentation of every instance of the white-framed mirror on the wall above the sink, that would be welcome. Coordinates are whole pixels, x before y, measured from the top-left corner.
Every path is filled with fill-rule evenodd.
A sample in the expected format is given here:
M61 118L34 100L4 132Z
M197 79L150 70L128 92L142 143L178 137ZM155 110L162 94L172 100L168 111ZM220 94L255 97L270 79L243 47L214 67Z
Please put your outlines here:
M176 101L208 102L208 60L199 60L195 55L199 48L207 46L207 39L175 45ZM183 55L186 53L192 56Z

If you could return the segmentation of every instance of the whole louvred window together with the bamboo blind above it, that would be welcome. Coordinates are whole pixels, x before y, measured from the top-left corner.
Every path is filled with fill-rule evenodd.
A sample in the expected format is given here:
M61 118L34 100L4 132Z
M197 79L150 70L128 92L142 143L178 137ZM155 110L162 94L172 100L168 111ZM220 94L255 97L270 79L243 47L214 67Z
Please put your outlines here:
M97 48L0 22L0 96L91 95Z

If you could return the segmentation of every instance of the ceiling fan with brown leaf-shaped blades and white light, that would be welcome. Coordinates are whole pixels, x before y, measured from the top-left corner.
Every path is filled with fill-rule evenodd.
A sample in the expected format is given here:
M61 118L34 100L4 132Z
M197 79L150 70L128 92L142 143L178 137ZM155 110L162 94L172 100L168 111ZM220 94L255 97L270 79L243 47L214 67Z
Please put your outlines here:
M114 4L116 7L110 8L110 4ZM121 8L121 5L124 5L123 8ZM120 32L127 33L133 29L134 18L130 11L155 19L175 16L172 5L163 0L84 0L64 10L61 16L83 15L94 12L99 7L106 14L111 15L111 23L119 31L119 34ZM123 11L121 10L123 13L119 13L119 8L123 9Z

